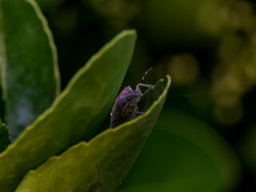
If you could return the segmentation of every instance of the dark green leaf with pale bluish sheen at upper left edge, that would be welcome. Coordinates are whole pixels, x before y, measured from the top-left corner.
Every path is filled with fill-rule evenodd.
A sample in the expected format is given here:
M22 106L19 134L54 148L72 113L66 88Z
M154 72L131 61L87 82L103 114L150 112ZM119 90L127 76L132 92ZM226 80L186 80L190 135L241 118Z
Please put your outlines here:
M60 88L53 37L34 0L0 0L0 57L6 122L16 138Z

